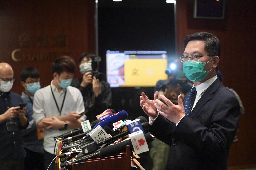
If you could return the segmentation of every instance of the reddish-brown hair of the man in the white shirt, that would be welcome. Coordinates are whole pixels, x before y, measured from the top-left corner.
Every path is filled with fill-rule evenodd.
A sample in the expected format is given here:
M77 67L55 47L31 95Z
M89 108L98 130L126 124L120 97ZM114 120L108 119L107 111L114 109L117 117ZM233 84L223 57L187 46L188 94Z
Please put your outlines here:
M64 71L72 74L76 72L76 64L69 56L59 57L52 63L52 74L57 73L60 75Z

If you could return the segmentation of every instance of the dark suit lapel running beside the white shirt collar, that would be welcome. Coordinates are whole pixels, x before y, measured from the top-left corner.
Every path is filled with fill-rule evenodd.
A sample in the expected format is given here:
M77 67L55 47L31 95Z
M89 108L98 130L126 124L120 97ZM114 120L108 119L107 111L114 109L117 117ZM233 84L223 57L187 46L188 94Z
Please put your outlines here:
M205 105L205 103L211 99L211 94L215 93L218 87L221 85L219 79L217 78L212 85L210 85L206 91L204 92L203 96L198 100L196 106L193 108L191 113L189 114L190 118L194 118L198 111Z

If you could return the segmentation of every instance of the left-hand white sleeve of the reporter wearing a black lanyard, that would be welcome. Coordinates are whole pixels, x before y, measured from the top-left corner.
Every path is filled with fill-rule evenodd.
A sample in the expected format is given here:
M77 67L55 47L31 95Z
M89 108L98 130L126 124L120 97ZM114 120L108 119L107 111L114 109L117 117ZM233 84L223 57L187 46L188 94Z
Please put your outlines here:
M34 100L33 100L34 113L32 115L36 124L40 122L43 118L45 118L45 111L43 108L44 108L43 95L40 91L37 91L34 95Z

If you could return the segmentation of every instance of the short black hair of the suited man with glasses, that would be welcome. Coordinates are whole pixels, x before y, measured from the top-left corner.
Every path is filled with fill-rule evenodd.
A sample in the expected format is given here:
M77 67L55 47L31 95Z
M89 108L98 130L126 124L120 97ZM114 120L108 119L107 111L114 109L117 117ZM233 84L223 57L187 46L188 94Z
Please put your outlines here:
M192 33L186 36L183 42L183 52L189 41L196 41L196 40L205 42L205 51L207 51L209 55L213 55L213 56L217 55L220 58L220 50L221 50L220 41L215 35L207 32L197 32L197 33ZM219 67L219 64L216 68L217 71L218 71L218 67Z

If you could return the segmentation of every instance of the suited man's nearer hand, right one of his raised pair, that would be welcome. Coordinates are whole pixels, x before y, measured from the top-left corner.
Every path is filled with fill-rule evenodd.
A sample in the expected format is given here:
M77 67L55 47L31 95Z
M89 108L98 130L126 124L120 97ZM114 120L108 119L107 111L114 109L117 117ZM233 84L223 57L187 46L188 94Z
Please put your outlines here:
M157 108L157 112L159 112L159 114L163 115L169 121L177 124L180 119L185 115L181 95L178 96L178 105L173 104L164 95L160 95L160 97L162 98L162 100L164 100L166 104L156 99L154 106Z

